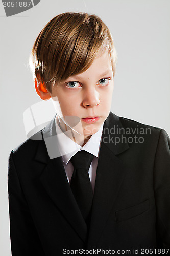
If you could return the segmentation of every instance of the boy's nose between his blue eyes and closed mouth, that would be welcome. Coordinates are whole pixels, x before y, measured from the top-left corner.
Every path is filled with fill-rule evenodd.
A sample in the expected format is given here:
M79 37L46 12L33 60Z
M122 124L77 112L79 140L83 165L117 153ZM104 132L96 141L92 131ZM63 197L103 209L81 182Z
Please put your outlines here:
M95 90L95 88L87 88L83 92L83 106L85 108L91 107L93 108L96 105L100 104L99 100L99 92Z

